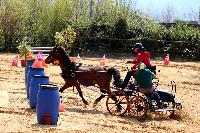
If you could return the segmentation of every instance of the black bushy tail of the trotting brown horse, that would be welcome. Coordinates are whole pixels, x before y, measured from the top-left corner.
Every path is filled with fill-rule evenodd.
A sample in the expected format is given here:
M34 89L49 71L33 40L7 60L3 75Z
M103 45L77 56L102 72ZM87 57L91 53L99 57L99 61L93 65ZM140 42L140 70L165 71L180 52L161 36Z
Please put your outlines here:
M108 71L108 73L113 75L113 78L114 78L113 85L117 88L120 88L122 86L123 80L121 79L121 75L120 75L119 70L111 67L111 68L107 69L107 71Z

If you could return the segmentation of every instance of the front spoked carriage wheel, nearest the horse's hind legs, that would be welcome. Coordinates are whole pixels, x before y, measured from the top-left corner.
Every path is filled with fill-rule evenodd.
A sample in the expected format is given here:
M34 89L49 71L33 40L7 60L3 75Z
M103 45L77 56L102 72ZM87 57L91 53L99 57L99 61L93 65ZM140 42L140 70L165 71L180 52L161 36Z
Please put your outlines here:
M123 91L113 91L108 95L106 107L110 114L123 116L128 109L128 97Z

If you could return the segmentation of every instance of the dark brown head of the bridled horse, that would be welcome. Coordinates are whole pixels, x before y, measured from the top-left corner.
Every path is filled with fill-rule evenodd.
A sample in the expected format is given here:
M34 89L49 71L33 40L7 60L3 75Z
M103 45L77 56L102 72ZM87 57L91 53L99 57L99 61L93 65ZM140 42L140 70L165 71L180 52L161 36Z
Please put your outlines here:
M63 54L65 53L64 48L55 46L52 51L49 53L49 56L45 59L45 63L50 64L54 61L62 59Z

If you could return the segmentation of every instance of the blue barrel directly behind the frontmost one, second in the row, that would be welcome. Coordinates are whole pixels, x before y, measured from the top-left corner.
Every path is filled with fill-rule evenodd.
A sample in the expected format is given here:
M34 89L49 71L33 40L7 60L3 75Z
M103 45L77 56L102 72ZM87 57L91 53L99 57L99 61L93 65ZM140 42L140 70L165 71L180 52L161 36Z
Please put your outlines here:
M37 94L40 84L49 84L48 76L33 75L29 87L29 105L31 109L36 109Z

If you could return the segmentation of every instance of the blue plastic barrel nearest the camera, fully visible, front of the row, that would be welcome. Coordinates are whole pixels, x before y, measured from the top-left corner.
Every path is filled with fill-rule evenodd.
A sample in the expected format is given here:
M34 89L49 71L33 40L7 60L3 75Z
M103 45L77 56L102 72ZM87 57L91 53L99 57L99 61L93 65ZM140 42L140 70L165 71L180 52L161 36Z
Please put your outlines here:
M38 123L56 125L59 116L59 104L60 96L57 85L40 85L36 107Z

